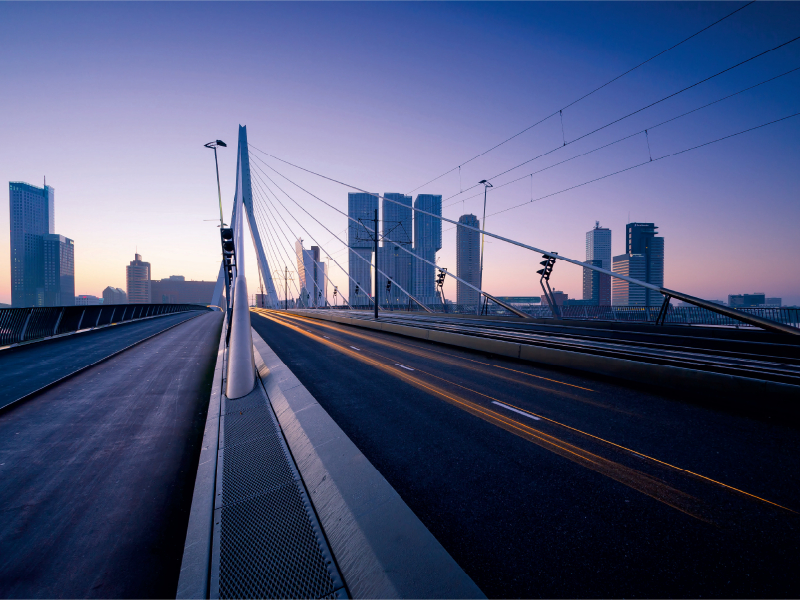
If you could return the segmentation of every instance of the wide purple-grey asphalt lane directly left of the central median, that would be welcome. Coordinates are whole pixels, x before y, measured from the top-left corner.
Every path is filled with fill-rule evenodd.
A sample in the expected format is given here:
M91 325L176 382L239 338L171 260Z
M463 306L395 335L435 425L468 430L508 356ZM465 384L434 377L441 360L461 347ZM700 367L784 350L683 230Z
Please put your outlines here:
M221 321L0 415L0 597L175 597Z

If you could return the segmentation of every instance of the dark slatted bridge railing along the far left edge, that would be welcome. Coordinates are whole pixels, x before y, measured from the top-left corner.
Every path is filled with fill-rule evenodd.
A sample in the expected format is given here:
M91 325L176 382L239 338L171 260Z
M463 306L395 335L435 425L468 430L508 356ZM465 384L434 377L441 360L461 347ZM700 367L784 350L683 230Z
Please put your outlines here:
M0 309L0 346L189 310L202 304L99 304Z

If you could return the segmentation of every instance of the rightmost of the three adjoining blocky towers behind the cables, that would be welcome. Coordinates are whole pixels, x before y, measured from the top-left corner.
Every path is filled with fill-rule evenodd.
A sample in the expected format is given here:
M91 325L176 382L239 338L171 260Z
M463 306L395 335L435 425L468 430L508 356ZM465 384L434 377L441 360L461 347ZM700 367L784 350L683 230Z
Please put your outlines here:
M419 194L414 208L442 216L442 197ZM436 263L436 252L442 249L442 220L414 212L414 254L431 263ZM419 258L413 260L414 291L423 304L440 302L436 296L436 269Z

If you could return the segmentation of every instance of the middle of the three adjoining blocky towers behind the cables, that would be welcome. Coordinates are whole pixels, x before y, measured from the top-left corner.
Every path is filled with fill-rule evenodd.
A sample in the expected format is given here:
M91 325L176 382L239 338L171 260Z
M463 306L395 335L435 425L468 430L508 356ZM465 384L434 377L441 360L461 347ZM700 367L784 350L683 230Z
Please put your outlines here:
M390 200L401 202L402 205L390 202ZM381 226L383 245L378 249L378 269L386 273L394 283L387 294L386 277L378 275L378 296L381 303L405 304L408 302L408 297L400 291L400 287L411 291L412 256L395 244L411 250L413 236L411 213L411 196L389 192L383 194Z

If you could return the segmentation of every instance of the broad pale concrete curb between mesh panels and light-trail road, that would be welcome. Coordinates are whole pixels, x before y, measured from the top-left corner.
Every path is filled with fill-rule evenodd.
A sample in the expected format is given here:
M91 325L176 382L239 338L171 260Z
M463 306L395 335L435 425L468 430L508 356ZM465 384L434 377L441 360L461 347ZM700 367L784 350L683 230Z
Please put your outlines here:
M262 359L256 368L352 597L484 598L255 330L253 345Z

